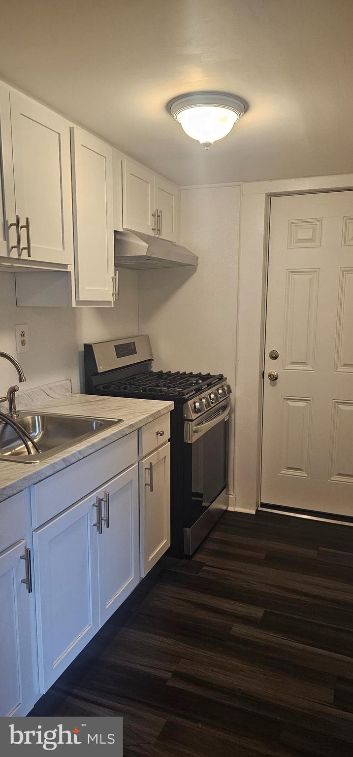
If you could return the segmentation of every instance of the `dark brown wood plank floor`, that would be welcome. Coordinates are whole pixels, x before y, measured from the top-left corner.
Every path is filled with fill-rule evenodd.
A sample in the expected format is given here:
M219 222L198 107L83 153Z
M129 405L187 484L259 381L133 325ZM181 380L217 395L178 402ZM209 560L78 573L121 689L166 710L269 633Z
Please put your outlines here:
M30 715L122 715L125 757L352 757L353 528L226 512Z

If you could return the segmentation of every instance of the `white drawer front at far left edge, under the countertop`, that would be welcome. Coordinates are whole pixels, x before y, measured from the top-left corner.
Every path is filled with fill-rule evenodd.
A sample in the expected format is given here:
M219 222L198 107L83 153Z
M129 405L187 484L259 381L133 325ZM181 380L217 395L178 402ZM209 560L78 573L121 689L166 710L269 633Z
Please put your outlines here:
M29 525L29 489L0 502L0 552L22 539Z

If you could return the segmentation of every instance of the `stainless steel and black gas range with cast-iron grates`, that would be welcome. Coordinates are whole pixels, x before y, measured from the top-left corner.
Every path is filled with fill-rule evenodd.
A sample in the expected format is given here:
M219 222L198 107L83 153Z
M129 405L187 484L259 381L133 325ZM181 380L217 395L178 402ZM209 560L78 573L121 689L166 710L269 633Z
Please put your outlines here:
M224 375L153 371L147 335L84 345L85 391L172 400L169 553L191 555L228 507L228 419Z

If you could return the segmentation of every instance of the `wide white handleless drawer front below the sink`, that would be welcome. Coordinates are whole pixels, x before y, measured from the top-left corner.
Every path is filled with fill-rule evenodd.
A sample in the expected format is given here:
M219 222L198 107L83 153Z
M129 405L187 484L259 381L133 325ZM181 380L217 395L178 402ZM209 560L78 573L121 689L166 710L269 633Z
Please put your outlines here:
M38 528L98 489L138 459L138 432L107 444L31 488L32 525Z

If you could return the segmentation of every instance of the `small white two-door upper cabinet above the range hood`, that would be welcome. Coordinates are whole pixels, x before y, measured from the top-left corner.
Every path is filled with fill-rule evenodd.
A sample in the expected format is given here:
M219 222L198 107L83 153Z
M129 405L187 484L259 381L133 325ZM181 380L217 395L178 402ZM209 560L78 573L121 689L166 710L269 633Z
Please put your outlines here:
M134 160L122 158L123 229L178 241L179 197L180 190L174 184ZM117 211L114 217L119 220Z

